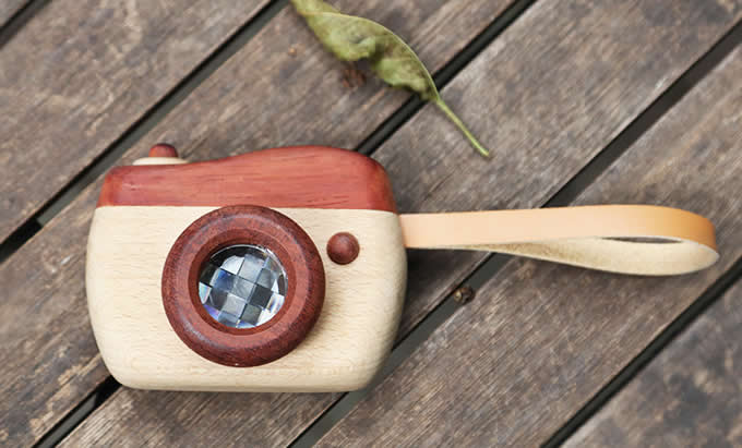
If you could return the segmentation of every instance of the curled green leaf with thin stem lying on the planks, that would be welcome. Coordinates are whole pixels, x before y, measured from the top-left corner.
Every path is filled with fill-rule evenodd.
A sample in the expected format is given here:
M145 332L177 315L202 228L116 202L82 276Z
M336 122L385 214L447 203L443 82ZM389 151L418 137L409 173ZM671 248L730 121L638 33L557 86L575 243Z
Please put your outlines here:
M291 3L325 48L338 59L368 59L371 70L384 82L433 101L481 155L490 155L443 101L426 66L398 36L368 19L342 14L321 0L291 0Z

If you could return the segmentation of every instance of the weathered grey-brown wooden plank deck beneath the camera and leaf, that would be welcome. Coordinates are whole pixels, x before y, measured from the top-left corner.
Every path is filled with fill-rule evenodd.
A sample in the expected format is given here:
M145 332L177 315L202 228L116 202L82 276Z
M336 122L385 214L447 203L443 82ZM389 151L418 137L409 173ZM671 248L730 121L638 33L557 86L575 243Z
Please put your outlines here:
M332 3L403 36L492 159L286 0L2 2L0 445L742 446L742 0ZM93 339L85 243L101 174L157 142L357 149L405 213L682 207L721 258L636 278L409 251L367 390L129 389Z

